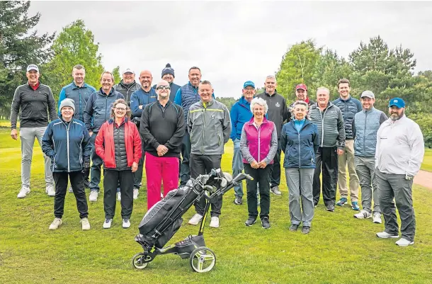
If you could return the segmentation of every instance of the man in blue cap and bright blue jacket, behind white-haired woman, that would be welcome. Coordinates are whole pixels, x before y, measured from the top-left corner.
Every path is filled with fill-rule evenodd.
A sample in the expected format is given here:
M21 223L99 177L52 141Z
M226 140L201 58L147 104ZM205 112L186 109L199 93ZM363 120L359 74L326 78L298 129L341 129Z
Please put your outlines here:
M243 157L240 151L241 130L244 123L252 118L251 101L255 97L255 84L253 81L246 81L243 84L243 96L234 103L231 108L231 135L230 138L234 143L234 156L232 157L232 176L237 176L243 171ZM234 186L234 204L243 203L243 183Z

